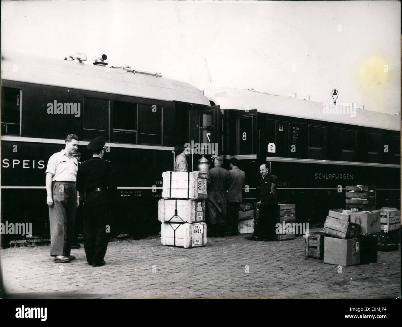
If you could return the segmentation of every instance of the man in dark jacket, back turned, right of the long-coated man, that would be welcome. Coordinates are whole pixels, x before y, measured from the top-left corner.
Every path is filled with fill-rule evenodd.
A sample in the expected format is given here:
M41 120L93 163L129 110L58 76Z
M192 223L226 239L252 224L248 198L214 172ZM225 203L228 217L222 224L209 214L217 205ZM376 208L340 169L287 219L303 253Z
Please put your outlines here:
M236 158L230 159L229 189L228 189L228 215L226 219L226 229L229 234L238 235L239 209L242 203L242 189L246 174L238 167Z

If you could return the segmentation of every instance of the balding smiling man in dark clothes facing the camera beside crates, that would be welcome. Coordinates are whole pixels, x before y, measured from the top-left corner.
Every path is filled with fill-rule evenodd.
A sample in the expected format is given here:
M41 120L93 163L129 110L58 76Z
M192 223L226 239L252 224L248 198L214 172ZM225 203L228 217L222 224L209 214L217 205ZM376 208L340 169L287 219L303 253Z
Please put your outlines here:
M279 215L277 183L278 177L268 172L267 165L260 166L262 177L260 185L260 215L255 227L255 231L246 239L253 241L273 241L276 240L275 224Z

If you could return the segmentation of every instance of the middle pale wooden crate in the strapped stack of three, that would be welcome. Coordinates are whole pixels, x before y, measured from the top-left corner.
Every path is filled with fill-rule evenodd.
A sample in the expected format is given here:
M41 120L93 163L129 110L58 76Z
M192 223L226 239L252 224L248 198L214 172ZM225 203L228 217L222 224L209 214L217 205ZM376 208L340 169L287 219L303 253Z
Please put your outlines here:
M205 221L204 199L160 199L158 220L163 222L200 223Z

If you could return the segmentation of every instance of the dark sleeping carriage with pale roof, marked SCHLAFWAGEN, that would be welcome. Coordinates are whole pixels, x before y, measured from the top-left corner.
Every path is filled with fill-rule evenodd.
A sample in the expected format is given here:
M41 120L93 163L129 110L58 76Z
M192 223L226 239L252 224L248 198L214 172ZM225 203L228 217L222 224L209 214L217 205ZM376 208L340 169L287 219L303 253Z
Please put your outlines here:
M346 185L375 185L377 207L400 207L400 116L330 113L329 104L252 89L205 95L220 120L211 129L220 153L241 159L246 201L258 197L258 166L267 163L279 176L279 201L295 203L299 221L323 223L328 209L345 207Z

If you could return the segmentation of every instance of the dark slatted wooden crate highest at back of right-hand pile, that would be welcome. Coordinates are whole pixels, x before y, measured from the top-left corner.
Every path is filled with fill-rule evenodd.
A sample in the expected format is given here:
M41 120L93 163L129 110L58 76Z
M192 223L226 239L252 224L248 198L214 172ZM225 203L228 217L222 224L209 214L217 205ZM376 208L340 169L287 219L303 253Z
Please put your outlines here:
M347 186L346 209L350 211L370 211L375 209L375 186Z

